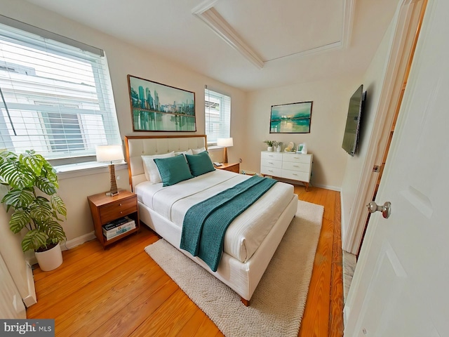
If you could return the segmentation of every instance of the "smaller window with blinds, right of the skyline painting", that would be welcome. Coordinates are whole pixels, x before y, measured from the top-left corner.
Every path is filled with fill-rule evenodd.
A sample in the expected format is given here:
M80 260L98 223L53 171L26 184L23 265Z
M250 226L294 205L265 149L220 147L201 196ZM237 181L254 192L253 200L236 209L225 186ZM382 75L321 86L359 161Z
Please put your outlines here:
M217 138L229 138L231 135L231 98L209 90L207 86L204 94L208 145L216 145Z

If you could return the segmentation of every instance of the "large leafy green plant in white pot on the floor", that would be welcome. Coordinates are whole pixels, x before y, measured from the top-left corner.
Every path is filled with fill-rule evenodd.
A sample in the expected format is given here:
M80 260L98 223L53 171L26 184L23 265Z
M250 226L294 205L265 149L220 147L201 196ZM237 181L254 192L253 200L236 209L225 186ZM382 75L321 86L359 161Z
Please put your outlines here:
M22 251L33 249L41 270L48 271L62 263L59 243L66 239L60 216L67 218L64 201L56 194L58 176L41 154L0 151L0 183L8 187L1 199L6 211L13 209L9 227L14 233L23 229Z

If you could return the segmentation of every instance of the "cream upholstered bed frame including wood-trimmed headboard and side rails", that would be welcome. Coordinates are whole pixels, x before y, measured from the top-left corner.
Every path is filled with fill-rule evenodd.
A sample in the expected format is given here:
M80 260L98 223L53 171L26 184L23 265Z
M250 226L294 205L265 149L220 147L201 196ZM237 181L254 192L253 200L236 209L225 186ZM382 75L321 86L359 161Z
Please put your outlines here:
M126 136L126 161L128 162L128 173L131 189L138 183L146 180L143 169L142 155L164 154L167 152L185 151L188 149L207 148L205 135L192 136ZM208 270L210 274L227 284L232 290L241 296L244 305L249 305L250 298L259 284L264 271L267 269L269 261L272 259L279 242L286 232L288 225L295 216L297 210L297 195L293 194L292 199L286 205L281 216L267 234L264 241L250 259L245 263L237 260L227 253L223 253L220 265L216 272L210 268L200 258L192 256L187 251L179 248L181 230L170 220L163 218L158 213L149 209L145 204L138 201L140 221L145 223L154 232L166 239L176 249Z

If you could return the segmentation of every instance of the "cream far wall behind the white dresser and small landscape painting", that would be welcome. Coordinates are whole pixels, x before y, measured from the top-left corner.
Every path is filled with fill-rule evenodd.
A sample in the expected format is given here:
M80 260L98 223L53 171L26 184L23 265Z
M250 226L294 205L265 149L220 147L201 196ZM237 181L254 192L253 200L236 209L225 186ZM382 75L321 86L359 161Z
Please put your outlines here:
M361 77L328 79L248 93L246 151L241 168L260 171L260 151L267 150L264 140L278 140L284 145L307 143L307 151L314 154L312 185L340 190L349 157L342 149L349 98L361 81ZM310 133L269 133L272 105L310 100Z

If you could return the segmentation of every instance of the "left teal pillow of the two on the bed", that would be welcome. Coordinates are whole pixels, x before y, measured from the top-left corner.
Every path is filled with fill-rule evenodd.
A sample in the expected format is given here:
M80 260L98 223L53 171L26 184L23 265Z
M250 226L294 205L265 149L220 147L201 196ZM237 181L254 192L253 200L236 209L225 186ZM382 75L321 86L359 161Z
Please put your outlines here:
M155 158L154 162L161 174L162 186L175 185L182 180L194 178L182 154L170 158Z

